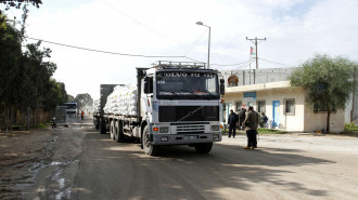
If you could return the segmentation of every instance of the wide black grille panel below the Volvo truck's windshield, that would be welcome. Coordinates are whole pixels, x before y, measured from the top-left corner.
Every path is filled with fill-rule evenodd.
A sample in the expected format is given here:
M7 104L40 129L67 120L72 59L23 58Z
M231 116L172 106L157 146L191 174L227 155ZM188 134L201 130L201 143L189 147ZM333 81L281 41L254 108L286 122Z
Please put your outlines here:
M219 106L159 106L159 122L219 121Z

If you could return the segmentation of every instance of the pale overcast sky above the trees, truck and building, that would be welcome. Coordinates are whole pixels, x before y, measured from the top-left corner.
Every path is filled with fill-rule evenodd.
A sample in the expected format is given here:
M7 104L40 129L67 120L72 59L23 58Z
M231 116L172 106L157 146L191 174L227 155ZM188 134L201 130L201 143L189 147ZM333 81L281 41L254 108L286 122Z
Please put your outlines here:
M117 53L207 62L208 28L197 26L199 21L212 28L210 64L219 70L248 68L234 65L250 59L254 44L246 37L267 38L258 45L259 68L299 66L315 53L358 61L356 0L42 2L40 9L30 6L28 37L114 53L42 43L53 51L54 78L74 96L89 93L98 98L100 84L135 83L136 67L150 67L156 61L190 61ZM5 13L20 19L20 11Z

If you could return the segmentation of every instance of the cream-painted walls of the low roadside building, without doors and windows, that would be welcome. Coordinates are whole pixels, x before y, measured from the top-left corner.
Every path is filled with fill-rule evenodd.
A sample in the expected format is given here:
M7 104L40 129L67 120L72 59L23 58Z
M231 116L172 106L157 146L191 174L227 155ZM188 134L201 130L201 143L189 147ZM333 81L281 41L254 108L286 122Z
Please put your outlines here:
M243 92L228 93L223 96L225 103L230 104L229 110L238 110L235 102L241 101L243 105ZM284 112L285 101L294 99L294 115ZM282 88L256 91L254 109L257 110L257 101L265 101L265 112L272 124L273 101L280 101L278 129L293 132L314 132L325 130L327 112L315 114L311 106L305 104L305 92L302 88ZM227 114L226 114L227 115ZM337 133L344 130L344 111L337 110L331 114L331 132Z

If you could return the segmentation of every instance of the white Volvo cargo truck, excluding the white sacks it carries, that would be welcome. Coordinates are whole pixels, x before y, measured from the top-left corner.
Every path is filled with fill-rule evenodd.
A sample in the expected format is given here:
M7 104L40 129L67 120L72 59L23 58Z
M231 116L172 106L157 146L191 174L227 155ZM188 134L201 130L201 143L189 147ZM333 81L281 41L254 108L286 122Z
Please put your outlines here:
M203 63L158 62L151 68L137 68L137 92L131 94L136 110L105 111L107 97L117 85L101 84L93 123L101 134L110 130L118 143L128 137L139 141L151 156L159 146L171 145L189 145L207 154L213 142L221 141L225 84L218 74Z

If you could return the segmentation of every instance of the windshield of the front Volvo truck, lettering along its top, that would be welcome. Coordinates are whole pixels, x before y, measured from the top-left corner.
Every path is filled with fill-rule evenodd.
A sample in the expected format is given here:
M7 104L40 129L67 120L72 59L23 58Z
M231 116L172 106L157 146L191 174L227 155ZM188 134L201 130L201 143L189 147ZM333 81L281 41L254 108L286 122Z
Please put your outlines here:
M158 99L219 99L216 74L197 71L158 71L156 74Z

